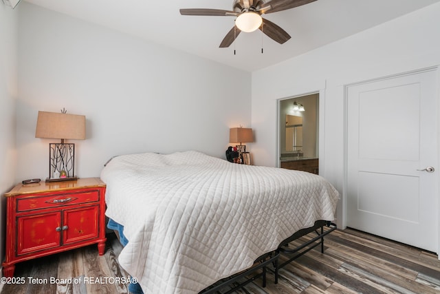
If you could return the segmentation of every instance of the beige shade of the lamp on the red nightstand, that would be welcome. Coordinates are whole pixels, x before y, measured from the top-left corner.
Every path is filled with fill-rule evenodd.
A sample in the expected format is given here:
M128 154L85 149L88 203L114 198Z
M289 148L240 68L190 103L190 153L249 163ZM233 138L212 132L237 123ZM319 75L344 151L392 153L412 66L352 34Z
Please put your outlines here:
M85 116L39 112L35 138L85 140Z

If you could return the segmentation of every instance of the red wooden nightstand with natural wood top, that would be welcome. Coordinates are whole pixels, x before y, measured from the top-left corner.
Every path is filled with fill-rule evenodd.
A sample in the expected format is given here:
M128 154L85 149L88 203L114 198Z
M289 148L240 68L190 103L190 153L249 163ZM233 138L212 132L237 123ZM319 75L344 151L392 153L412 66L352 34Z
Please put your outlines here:
M99 178L15 186L7 198L3 276L32 258L98 243L105 249L105 184Z

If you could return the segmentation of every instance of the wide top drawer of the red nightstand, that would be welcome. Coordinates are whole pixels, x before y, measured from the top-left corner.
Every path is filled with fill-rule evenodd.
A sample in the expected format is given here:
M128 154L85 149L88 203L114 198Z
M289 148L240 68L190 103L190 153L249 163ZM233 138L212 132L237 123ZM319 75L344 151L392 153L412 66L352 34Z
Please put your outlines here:
M59 193L50 196L22 196L17 198L17 212L61 207L99 201L99 191L83 191L78 193Z

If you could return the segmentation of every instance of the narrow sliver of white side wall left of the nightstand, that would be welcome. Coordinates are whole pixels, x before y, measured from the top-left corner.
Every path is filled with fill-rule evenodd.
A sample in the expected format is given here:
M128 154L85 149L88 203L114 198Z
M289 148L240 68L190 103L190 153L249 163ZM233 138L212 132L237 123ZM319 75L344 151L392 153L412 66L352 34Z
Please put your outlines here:
M18 10L0 3L0 195L15 184L15 98L17 97ZM0 199L0 256L3 257L6 201Z

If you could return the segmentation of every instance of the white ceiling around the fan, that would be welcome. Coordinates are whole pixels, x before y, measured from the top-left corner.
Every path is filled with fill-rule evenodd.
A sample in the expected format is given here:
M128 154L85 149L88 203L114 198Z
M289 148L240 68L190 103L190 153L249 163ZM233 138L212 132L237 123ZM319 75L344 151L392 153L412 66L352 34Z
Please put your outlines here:
M242 32L230 48L219 44L233 27L234 17L182 16L179 8L232 10L233 0L25 1L252 72L440 0L318 0L263 14L292 36L283 45L257 30Z

